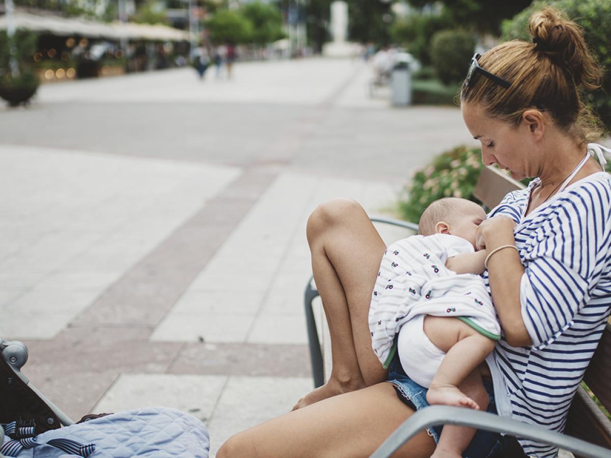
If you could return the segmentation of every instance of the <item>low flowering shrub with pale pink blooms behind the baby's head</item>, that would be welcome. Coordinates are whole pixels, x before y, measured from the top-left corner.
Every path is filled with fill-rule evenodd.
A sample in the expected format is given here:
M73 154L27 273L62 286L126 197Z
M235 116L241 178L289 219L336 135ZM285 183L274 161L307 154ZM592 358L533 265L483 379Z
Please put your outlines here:
M477 202L473 190L481 167L479 148L458 147L439 154L431 165L415 172L411 184L404 187L399 202L401 217L418 222L424 209L442 197Z

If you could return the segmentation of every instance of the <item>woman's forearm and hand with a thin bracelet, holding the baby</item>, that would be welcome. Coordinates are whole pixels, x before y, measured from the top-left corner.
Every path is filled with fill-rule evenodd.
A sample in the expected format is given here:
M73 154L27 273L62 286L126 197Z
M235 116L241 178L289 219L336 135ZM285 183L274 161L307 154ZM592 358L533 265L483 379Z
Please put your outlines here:
M515 245L513 238L513 220L497 216L483 221L478 228L476 244L486 247L486 251L502 245ZM499 315L500 325L505 333L507 343L513 347L532 345L532 340L524 321L520 304L520 281L524 266L517 250L502 249L490 256L488 260L488 277L492 302Z

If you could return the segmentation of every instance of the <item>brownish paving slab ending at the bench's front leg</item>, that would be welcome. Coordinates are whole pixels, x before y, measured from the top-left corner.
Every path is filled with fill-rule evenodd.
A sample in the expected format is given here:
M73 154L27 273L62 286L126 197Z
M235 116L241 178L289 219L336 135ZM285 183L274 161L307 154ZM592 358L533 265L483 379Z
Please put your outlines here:
M187 343L170 374L312 377L307 345Z

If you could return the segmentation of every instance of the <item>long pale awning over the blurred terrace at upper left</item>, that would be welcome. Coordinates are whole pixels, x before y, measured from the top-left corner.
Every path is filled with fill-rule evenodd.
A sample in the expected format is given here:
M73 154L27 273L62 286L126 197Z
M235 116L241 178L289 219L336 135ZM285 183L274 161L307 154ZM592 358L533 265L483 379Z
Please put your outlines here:
M79 35L87 38L108 38L111 40L160 40L180 42L189 40L189 32L162 24L103 23L82 18L60 16L38 16L31 13L15 12L13 23L16 29L34 32L49 32L60 37ZM0 16L0 30L6 29L6 16Z

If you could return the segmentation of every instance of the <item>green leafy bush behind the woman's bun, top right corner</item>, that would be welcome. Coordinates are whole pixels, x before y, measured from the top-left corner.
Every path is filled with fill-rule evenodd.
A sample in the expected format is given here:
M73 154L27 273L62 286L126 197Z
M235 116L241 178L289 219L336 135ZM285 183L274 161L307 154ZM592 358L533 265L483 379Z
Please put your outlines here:
M611 2L600 0L535 1L511 20L503 21L502 39L531 40L528 24L532 13L546 5L563 11L584 29L585 41L606 68L602 89L584 92L585 100L611 130Z

